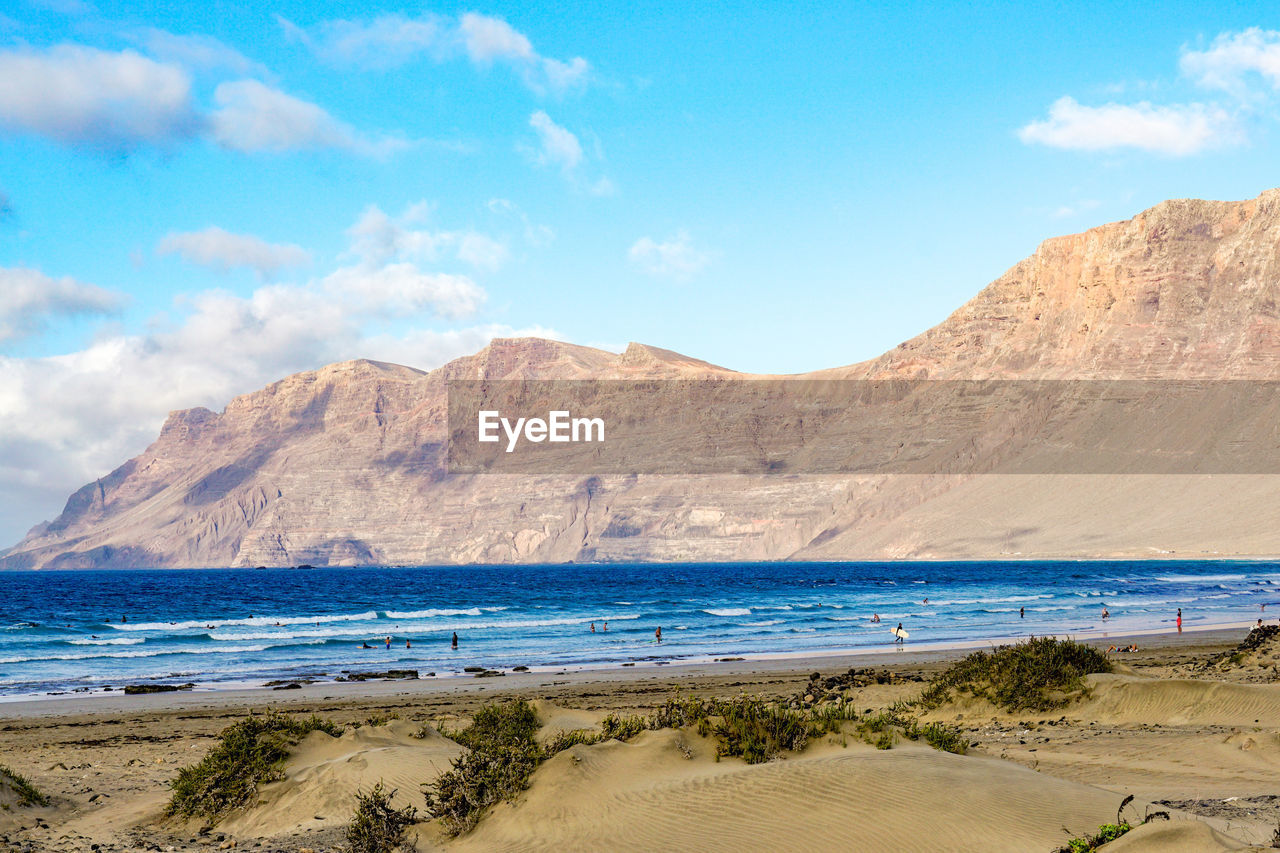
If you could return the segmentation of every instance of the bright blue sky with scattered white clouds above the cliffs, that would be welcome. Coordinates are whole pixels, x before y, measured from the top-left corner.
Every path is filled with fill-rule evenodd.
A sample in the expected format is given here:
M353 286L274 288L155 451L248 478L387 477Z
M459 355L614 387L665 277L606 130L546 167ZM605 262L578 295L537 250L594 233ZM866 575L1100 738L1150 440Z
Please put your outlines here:
M353 357L873 357L1039 241L1280 186L1251 3L0 6L0 548Z

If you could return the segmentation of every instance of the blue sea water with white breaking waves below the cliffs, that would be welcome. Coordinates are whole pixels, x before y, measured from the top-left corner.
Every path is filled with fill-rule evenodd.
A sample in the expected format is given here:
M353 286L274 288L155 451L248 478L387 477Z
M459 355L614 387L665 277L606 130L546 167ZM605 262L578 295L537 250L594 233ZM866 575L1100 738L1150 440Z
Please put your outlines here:
M1271 603L1277 603L1274 612L1263 612L1262 605ZM1020 607L1025 617L1019 617ZM1103 607L1111 613L1107 622ZM1100 630L1121 635L1171 630L1179 607L1187 629L1280 616L1280 564L0 573L0 697L146 681L230 686L335 678L343 670L416 669L444 678L465 666L536 670L803 657L890 649L890 629L897 622L910 631L910 646ZM872 613L882 621L870 622ZM659 626L660 644L654 642ZM457 651L449 646L454 631ZM374 648L361 648L364 643Z

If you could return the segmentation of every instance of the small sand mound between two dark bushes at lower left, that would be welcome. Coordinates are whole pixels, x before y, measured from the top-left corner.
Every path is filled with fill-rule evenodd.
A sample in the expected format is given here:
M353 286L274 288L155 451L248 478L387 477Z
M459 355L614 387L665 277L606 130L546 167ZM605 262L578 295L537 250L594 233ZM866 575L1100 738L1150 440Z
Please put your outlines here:
M241 838L266 838L300 829L343 826L351 820L356 792L381 781L398 790L397 806L417 806L419 785L449 768L462 747L421 726L393 720L361 726L340 738L307 735L284 766L285 777L264 785L259 804L224 821L219 829Z

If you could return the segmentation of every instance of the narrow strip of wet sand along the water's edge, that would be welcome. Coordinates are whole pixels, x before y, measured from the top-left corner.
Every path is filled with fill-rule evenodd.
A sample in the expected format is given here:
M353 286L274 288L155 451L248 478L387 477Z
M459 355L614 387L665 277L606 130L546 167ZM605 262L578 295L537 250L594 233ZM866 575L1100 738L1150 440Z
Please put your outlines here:
M1207 648L1231 648L1252 629L1254 622L1230 622L1184 628L1181 634L1172 630L1151 629L1056 635L1092 646L1120 644L1140 640L1139 652L1203 653ZM1096 634L1096 635L1093 635ZM1030 634L1028 634L1030 637ZM1037 635L1039 637L1039 635ZM1047 634L1046 637L1055 637ZM671 662L646 661L634 666L622 662L608 666L582 667L530 667L524 672L504 671L502 676L476 678L474 674L449 674L417 679L370 679L362 681L325 680L303 684L297 689L276 690L269 686L234 683L234 686L202 686L198 681L191 690L146 693L127 695L123 690L96 693L35 694L0 698L0 720L26 720L33 717L65 717L81 715L115 715L122 712L164 712L178 710L230 710L264 706L297 706L315 702L361 702L392 697L433 697L462 694L497 694L543 688L632 684L653 679L718 679L748 676L790 678L815 669L858 669L865 666L928 667L960 658L974 651L1020 642L1023 638L1002 638L957 643L919 644L906 648L855 648L819 649L817 652L774 652L735 656L733 660L681 660ZM1116 658L1124 663L1126 658ZM548 679L552 679L548 683ZM225 685L227 683L211 683Z

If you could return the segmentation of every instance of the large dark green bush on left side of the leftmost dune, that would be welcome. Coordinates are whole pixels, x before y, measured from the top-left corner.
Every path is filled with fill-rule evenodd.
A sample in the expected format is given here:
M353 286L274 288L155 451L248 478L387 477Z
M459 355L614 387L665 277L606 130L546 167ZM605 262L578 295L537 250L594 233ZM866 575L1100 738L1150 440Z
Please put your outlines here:
M292 717L278 711L232 724L198 763L178 771L165 812L218 820L251 804L259 785L283 777L284 760L312 731L337 738L342 726L315 715Z

